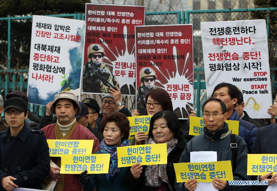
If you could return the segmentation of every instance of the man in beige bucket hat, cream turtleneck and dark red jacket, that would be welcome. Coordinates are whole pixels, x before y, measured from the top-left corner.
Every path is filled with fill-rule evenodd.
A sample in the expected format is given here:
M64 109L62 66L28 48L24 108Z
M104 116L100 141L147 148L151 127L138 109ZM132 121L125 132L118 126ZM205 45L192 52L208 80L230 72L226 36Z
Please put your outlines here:
M77 123L75 116L80 114L81 107L78 98L71 92L64 91L57 93L50 110L57 116L57 122L42 128L46 139L93 139L92 153L99 150L99 140L86 127ZM51 157L51 160L61 167L60 157ZM55 186L56 191L77 190L81 191L82 186L78 175L60 174L60 168L50 168L49 178L58 181Z

